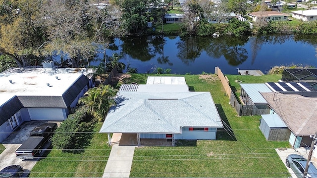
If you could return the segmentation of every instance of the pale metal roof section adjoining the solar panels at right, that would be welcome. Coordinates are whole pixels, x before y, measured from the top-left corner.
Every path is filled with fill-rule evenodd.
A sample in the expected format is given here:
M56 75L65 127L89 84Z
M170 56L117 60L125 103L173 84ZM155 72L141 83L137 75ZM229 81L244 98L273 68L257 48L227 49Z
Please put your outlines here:
M267 103L260 92L271 92L265 84L240 84L254 104Z

